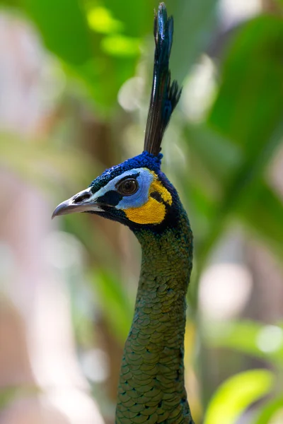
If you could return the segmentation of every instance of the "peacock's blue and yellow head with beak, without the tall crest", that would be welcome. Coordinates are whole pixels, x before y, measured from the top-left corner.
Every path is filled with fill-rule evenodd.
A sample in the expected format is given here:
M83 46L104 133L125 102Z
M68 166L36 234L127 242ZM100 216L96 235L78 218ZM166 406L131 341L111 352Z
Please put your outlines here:
M89 212L117 220L132 230L144 226L163 228L172 223L178 195L161 172L161 158L161 154L144 151L105 170L87 189L59 204L53 217Z

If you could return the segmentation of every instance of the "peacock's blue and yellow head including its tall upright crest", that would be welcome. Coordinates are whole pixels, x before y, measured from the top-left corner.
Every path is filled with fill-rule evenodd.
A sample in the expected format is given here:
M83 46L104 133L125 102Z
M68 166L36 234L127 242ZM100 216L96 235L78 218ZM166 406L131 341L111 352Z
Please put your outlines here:
M178 195L161 172L161 141L179 99L178 83L171 83L169 57L173 41L173 18L161 3L154 19L156 42L154 79L144 152L105 170L91 185L59 204L54 216L73 212L96 213L131 229L152 226L156 230L174 223L180 207Z

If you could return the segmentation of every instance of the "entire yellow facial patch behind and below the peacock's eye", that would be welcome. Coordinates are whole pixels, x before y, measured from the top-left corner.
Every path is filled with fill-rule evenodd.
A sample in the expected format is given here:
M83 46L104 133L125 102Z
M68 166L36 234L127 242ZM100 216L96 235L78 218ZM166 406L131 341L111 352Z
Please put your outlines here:
M165 204L151 197L151 193L158 192L161 195L161 199L170 206L173 202L171 194L158 181L156 173L150 172L154 175L154 180L149 187L149 200L144 205L139 206L139 208L127 208L124 210L127 218L137 224L160 224L166 216Z

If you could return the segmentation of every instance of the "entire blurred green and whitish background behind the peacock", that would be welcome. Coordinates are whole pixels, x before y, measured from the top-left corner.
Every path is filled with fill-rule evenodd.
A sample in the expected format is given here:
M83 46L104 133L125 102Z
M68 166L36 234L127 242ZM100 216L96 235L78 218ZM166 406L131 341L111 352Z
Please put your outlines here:
M283 1L167 0L196 424L283 423ZM55 206L141 153L156 0L0 0L0 423L113 424L140 251Z

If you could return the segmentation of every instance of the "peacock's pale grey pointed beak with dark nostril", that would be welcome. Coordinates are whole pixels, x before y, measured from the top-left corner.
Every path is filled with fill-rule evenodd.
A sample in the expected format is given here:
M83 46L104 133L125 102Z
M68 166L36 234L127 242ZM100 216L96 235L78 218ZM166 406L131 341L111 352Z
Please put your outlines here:
M82 192L75 194L70 199L62 201L62 203L60 203L52 213L52 219L55 216L67 215L67 213L88 211L103 212L103 209L100 208L100 205L96 203L96 199L94 199L90 187L88 187L86 190L83 190Z

